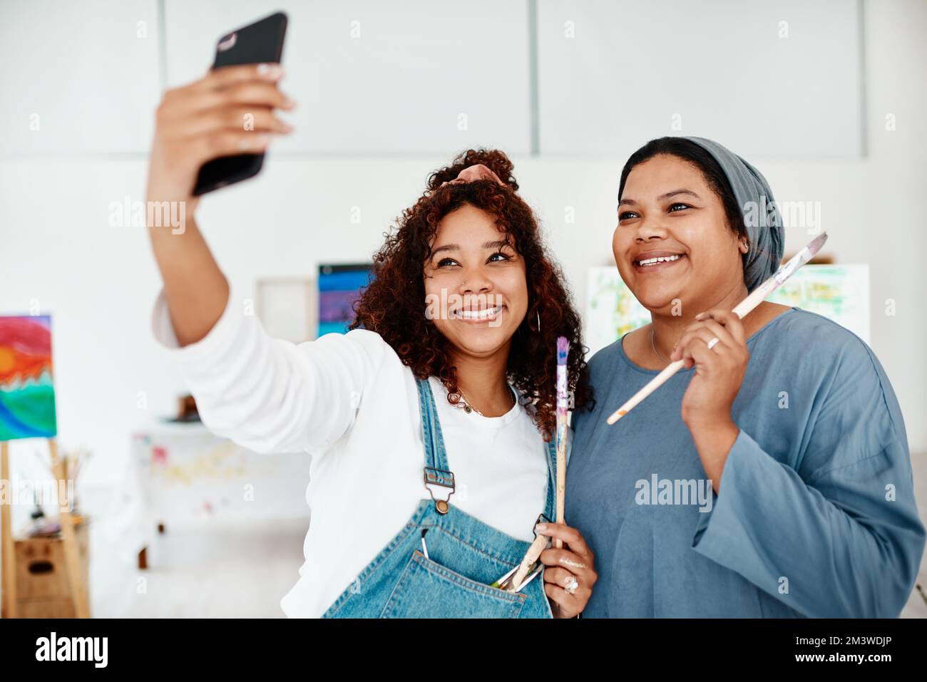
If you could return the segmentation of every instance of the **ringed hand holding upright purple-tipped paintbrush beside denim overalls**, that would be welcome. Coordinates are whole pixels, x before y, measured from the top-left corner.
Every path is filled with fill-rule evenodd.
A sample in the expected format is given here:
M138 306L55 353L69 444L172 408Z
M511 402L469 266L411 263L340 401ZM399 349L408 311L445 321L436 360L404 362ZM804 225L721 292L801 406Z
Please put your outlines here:
M559 537L562 549L548 548L540 553L544 569L544 592L557 605L557 618L576 618L592 596L599 579L593 569L592 551L576 528L566 524L538 524L539 535Z

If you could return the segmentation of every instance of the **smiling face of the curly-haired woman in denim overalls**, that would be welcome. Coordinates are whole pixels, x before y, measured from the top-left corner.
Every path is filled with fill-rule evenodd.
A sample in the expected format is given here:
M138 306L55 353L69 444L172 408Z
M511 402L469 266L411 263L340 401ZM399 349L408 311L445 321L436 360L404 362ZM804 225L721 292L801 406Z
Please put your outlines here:
M464 205L438 223L425 263L425 304L456 352L508 352L527 311L525 260L486 211Z

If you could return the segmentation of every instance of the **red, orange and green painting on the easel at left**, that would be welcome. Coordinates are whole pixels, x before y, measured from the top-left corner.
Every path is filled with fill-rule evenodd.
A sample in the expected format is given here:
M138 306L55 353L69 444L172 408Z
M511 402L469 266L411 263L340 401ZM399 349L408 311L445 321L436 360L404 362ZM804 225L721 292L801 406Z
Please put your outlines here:
M51 317L0 316L0 440L56 434Z

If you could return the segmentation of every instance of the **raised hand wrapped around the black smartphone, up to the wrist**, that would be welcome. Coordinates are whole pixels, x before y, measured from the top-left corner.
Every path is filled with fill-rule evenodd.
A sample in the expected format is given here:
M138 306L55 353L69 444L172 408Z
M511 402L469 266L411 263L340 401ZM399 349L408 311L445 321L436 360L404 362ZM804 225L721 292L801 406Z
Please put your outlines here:
M279 64L222 67L168 90L156 117L147 200L184 201L192 217L200 166L213 158L260 153L272 133L289 133L292 128L273 114L276 107L295 106L277 87L282 76Z

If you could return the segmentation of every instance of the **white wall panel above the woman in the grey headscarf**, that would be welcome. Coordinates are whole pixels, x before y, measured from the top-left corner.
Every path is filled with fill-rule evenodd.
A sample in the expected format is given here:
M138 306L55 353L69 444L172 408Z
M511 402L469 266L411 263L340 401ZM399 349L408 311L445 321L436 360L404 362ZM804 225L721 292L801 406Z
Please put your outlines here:
M856 0L540 0L538 23L541 154L623 159L674 134L863 153Z

